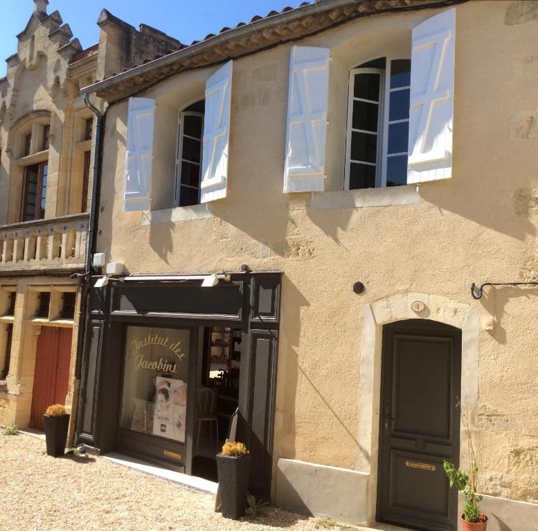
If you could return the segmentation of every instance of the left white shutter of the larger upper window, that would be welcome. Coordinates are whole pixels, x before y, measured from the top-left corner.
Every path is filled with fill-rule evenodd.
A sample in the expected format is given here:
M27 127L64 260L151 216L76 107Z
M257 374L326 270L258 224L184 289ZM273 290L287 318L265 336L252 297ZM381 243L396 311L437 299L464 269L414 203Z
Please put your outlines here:
M294 46L289 66L284 192L323 192L328 48Z

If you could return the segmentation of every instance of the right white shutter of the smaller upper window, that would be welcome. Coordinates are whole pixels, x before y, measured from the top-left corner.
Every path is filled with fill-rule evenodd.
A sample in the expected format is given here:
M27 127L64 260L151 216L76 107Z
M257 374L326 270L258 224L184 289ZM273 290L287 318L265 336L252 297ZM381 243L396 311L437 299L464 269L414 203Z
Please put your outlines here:
M200 203L226 197L231 90L232 62L228 61L206 82Z

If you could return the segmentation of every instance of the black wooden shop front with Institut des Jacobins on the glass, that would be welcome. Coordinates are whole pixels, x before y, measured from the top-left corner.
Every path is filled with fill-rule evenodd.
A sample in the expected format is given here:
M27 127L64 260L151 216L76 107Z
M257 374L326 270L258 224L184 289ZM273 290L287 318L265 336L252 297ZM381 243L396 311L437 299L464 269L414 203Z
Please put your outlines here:
M269 496L280 273L219 276L94 279L78 443L216 481L237 410L250 488Z

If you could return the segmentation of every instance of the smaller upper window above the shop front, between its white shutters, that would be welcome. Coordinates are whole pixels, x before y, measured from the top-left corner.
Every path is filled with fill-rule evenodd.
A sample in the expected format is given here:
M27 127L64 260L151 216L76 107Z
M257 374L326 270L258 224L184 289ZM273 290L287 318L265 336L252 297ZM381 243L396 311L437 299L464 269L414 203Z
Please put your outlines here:
M186 207L200 202L203 135L204 100L201 100L179 113L174 206Z

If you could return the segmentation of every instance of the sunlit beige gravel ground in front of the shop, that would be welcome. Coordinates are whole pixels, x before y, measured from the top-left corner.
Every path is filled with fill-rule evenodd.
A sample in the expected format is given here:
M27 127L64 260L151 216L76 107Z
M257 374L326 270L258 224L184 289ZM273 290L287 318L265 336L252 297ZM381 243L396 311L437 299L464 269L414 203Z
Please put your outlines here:
M43 440L24 434L0 435L0 493L1 531L340 529L273 509L258 519L223 519L211 494L99 457L49 457Z

